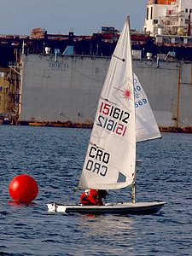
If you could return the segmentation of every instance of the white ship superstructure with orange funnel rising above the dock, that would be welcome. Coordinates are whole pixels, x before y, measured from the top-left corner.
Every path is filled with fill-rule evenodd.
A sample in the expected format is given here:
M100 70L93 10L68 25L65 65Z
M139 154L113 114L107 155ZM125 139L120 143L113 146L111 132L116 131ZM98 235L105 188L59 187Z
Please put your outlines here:
M144 32L191 36L191 0L150 0Z

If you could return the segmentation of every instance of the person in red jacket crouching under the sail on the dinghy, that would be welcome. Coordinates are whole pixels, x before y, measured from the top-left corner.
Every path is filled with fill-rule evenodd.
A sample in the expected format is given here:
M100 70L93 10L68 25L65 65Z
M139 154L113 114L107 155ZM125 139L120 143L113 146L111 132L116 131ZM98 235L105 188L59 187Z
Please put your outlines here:
M104 206L102 198L106 198L106 190L85 189L80 201L84 206Z

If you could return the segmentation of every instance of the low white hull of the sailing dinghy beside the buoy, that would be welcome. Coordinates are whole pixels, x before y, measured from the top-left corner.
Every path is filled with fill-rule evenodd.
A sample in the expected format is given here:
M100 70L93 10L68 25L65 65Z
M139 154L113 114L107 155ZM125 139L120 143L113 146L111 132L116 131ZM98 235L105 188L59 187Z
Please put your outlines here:
M166 202L137 202L137 203L111 203L105 206L82 206L82 205L61 205L48 204L49 212L79 212L89 214L153 214L159 212Z

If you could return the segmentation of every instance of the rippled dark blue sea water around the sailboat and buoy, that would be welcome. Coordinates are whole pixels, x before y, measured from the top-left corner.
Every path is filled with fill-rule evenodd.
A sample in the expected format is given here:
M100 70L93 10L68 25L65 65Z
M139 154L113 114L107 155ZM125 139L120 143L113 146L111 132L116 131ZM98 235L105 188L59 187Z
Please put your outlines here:
M137 201L166 201L147 216L48 212L78 185L90 130L0 126L0 255L192 255L190 134L163 133L139 143ZM38 183L31 205L16 205L9 183L28 174ZM79 202L76 192L69 203ZM128 201L127 189L110 201Z

